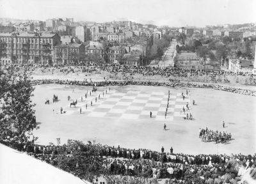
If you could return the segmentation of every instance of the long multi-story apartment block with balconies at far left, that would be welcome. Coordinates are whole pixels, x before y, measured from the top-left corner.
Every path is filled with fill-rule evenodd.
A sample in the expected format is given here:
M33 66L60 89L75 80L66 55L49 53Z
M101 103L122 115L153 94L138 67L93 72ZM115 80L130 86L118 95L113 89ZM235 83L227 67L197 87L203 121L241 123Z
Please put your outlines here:
M52 65L52 50L60 44L60 36L56 33L0 33L0 43L6 46L1 63Z

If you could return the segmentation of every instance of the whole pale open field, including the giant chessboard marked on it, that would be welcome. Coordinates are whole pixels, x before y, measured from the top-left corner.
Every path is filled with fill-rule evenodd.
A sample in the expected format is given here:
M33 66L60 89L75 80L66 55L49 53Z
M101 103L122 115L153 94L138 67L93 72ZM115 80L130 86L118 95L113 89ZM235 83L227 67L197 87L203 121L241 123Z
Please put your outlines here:
M102 144L114 146L120 144L125 148L148 148L158 151L161 146L166 149L173 146L175 153L255 153L256 151L256 98L253 96L213 89L189 88L190 93L186 96L185 103L189 102L189 98L196 102L191 109L195 120L191 121L179 115L180 108L184 105L180 93L182 91L186 93L185 88L111 86L111 91L108 88L97 88L95 96L89 95L86 99L84 94L87 90L90 93L91 89L92 87L56 84L36 86L33 102L36 103L36 121L40 123L40 129L35 130L35 134L39 137L40 143L56 143L56 138L60 137L61 143L65 143L67 139L79 139L84 142L95 140ZM108 89L107 95L106 89ZM169 89L173 99L170 100L168 116L164 119L161 105L163 104L165 109ZM105 91L104 96L103 91ZM45 98L49 98L52 102L51 98L54 94L58 95L60 101L45 105ZM71 101L68 102L68 95L73 100L77 100L77 107L70 107ZM95 102L96 96L97 102ZM90 107L92 100L93 107ZM155 104L154 101L159 101L161 105ZM85 109L86 103L88 109ZM157 107L154 107L156 105ZM60 114L60 107L66 111L65 114ZM79 113L80 107L82 114ZM153 118L149 118L150 108L152 111L156 110L153 111ZM104 117L97 116L99 111L100 116L103 113ZM226 128L222 128L223 120L226 122ZM167 125L167 131L163 130L164 123ZM234 140L228 144L202 142L198 138L198 130L202 127L230 132Z

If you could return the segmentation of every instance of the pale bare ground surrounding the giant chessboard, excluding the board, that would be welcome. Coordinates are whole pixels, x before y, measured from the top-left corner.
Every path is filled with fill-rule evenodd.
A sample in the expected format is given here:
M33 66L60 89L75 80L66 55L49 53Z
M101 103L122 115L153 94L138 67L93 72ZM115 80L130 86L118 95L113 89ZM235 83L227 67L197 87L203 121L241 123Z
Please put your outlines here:
M74 89L74 93L72 93ZM195 120L188 121L182 118L174 118L173 121L158 121L155 118L124 119L124 118L100 118L88 117L85 109L79 114L79 105L68 107L72 99L81 100L87 90L92 87L65 86L45 84L36 86L33 102L36 103L36 121L40 122L40 129L35 130L38 142L48 144L56 138L61 138L61 143L67 139L79 139L100 142L125 148L148 148L160 151L173 147L175 153L255 153L256 152L256 98L213 89L194 89L191 91L191 100L196 104L191 110ZM181 93L186 89L174 89L154 86L111 86L111 90L125 93L126 91ZM98 88L104 91L106 88ZM52 102L52 95L58 95L60 101L56 104L45 105L45 98ZM80 103L80 102L79 102ZM78 104L79 104L78 103ZM100 103L98 101L98 103ZM60 114L63 107L67 114ZM89 107L88 107L89 108ZM54 112L52 111L54 109ZM153 114L154 115L154 114ZM227 127L222 128L222 121ZM170 130L164 131L163 124ZM228 144L215 144L214 142L202 142L198 138L199 128L208 127L212 130L225 130L232 134L233 141Z

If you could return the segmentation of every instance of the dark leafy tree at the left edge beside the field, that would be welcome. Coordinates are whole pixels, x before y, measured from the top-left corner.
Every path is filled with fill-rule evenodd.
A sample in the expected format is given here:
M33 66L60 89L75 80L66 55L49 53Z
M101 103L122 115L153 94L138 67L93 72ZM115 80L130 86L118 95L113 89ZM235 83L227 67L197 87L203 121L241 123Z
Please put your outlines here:
M6 76L1 78L8 86L5 86L1 96L2 112L0 116L0 136L2 139L15 138L15 141L34 142L36 137L32 131L38 128L35 118L35 104L31 102L33 86L29 81L29 73L15 73L15 68L10 67ZM12 77L10 77L12 76Z

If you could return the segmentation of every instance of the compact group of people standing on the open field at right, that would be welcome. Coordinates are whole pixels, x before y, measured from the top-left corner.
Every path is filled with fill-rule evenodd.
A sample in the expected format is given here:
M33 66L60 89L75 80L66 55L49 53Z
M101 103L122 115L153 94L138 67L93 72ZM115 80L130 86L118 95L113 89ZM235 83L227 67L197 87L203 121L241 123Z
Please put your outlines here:
M199 132L199 138L202 139L203 142L216 142L219 143L225 143L227 141L230 141L232 139L232 135L227 132L218 132L218 130L209 130L208 128L202 128Z

